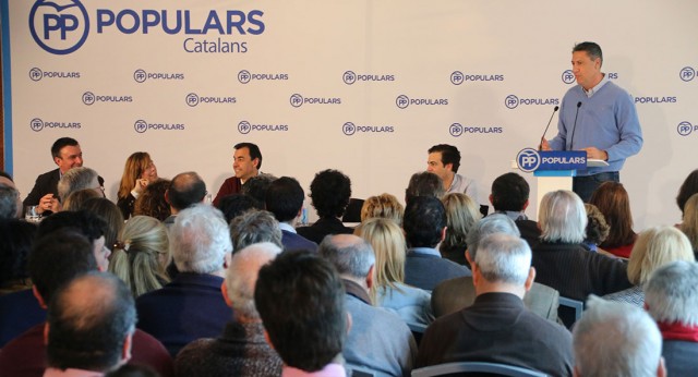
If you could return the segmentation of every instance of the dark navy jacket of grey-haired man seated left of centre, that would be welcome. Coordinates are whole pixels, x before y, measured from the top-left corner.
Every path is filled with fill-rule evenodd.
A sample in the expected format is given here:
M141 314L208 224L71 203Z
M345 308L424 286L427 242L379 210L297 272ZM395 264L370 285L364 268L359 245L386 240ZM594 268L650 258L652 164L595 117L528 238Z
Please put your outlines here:
M217 276L180 272L167 285L136 299L137 327L163 342L172 357L196 339L218 337L232 318L221 284Z

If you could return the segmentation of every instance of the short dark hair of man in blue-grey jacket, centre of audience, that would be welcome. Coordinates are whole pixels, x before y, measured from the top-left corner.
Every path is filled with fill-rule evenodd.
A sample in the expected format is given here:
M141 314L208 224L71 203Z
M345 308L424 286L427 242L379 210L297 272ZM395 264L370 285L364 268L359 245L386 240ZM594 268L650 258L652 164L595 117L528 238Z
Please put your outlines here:
M402 229L409 247L435 247L446 227L444 205L433 196L414 196L405 207Z

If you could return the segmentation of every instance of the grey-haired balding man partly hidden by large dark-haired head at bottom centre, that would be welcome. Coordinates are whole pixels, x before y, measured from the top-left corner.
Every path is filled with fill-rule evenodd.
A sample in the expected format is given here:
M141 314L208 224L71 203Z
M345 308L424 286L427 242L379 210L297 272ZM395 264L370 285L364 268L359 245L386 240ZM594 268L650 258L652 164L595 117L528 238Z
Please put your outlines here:
M238 251L222 284L233 318L216 339L189 343L174 360L178 376L279 376L281 360L264 340L264 326L254 306L254 284L262 266L281 250L265 242Z

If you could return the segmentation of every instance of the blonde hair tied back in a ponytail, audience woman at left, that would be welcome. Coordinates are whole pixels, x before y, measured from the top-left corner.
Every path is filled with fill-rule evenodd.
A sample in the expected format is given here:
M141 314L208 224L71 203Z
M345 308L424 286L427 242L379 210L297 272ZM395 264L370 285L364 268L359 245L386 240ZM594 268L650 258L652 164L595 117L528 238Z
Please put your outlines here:
M123 228L111 255L109 271L121 278L134 297L169 282L165 268L170 262L167 229L157 219L134 216Z

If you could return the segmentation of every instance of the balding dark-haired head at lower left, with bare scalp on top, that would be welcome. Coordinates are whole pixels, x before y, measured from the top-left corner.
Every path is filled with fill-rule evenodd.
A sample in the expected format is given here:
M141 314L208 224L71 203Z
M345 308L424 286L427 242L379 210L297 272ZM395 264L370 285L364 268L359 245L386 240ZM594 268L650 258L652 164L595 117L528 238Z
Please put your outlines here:
M125 361L122 351L135 328L135 304L119 278L92 272L57 293L47 319L49 366L106 372Z

